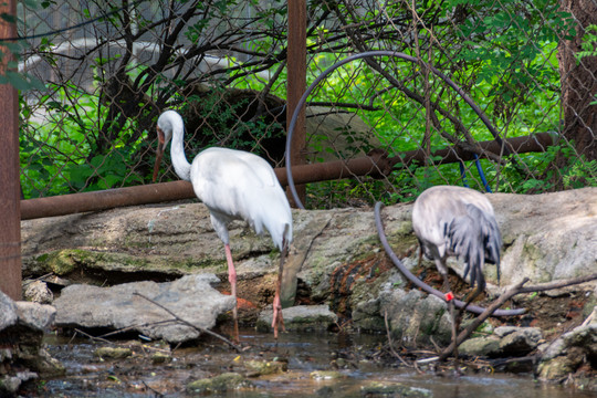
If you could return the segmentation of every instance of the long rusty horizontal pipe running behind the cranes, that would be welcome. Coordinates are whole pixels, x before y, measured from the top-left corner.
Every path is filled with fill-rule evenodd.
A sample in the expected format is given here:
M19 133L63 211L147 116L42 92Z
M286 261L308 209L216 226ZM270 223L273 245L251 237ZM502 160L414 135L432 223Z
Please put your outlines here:
M517 153L544 151L554 144L548 133L530 137L516 137L505 140ZM500 154L500 145L492 142L479 143L485 150ZM441 156L441 164L474 159L473 155L459 149L447 148L433 153ZM350 160L335 160L292 168L295 184L327 181L356 176L380 177L388 175L397 163L410 164L425 160L425 151L411 150L399 157L386 158L383 151ZM287 185L286 169L276 168L275 175L282 186ZM137 187L107 189L95 192L70 193L55 197L21 200L21 220L43 217L65 216L86 211L107 210L124 206L159 203L172 200L195 198L192 186L187 181L151 184Z

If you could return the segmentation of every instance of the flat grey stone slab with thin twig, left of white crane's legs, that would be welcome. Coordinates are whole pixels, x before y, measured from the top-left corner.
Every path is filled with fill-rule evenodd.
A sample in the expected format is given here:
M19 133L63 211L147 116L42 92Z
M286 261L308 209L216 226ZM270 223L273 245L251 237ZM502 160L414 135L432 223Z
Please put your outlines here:
M213 274L192 274L165 283L145 281L112 287L71 285L54 301L55 325L134 329L174 344L191 341L201 332L177 321L151 301L192 325L209 329L216 325L219 314L234 307L234 297L211 286L218 282Z

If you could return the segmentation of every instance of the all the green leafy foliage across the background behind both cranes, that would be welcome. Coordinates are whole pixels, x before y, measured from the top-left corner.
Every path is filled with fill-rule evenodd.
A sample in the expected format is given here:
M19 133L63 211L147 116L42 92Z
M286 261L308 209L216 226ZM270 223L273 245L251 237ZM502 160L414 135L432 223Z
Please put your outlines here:
M30 3L32 0L27 1ZM42 7L51 3L55 1L43 1ZM254 6L251 11L254 20L250 28L244 25L245 15L239 18L241 23L238 25L231 23L230 15L248 3ZM180 12L188 4L189 1L175 3L172 11ZM182 113L188 111L202 121L201 126L193 126L189 134L196 134L188 143L189 153L196 154L210 145L223 145L265 154L263 142L280 138L283 126L261 115L243 114L250 107L249 101L227 101L226 95L233 87L255 92L265 90L280 98L286 97L284 82L287 72L280 70L287 51L287 32L284 29L286 2L269 4L261 7L258 0L198 2L195 18L176 38L187 39L188 45L184 51L179 46L167 53L165 60L169 61L166 65L137 65L132 61L134 57L102 52L90 61L95 87L101 87L97 92L84 93L70 82L60 87L49 86L51 94L42 97L39 106L51 117L44 124L29 122L22 127L21 166L25 196L143 184L147 178L143 177L143 168L147 168L143 154L150 145L145 129L153 126L158 112L155 106L150 111L145 108L147 103L159 108L175 107ZM357 52L356 49L394 49L413 56L420 54L448 74L474 98L503 137L561 130L557 43L575 32L570 15L559 10L557 1L416 2L415 12L423 19L417 32L410 31L410 3L389 2L384 9L376 2L371 4L368 8L368 2L359 2L359 10L355 12L350 2L308 2L310 23L318 21L318 25L307 27L307 84L338 57ZM320 21L317 18L325 12L331 14ZM83 11L83 15L91 18L91 11ZM156 27L142 12L135 18L135 27L140 30L138 36L166 38L175 31L176 23ZM117 14L103 22L116 31L123 30L123 20ZM163 34L144 32L146 27L164 28ZM358 29L359 34L349 34L355 32L353 29ZM405 35L402 29L408 30L408 34ZM412 43L415 35L418 49ZM230 38L242 40L228 42ZM358 38L363 41L356 42ZM591 28L587 30L579 60L595 55L597 29ZM439 50L438 43L441 45ZM52 41L44 38L39 50L51 52L53 46ZM237 51L239 49L242 51ZM227 55L219 60L218 69L187 73L187 70L199 70L203 57L228 51L237 51L239 59ZM106 55L108 53L109 56ZM57 67L57 59L48 55L46 60ZM494 138L462 98L437 76L426 75L421 65L390 59L376 61L404 86L391 87L379 71L359 61L334 71L308 101L366 105L347 109L337 106L335 109L355 115L375 130L389 156L419 149L433 154L457 143ZM263 77L260 73L265 70L270 75ZM115 74L118 78L111 81L113 77L109 76ZM273 75L277 76L276 84L271 84ZM22 90L32 83L22 75L10 73L0 78L4 78L2 82L11 81ZM185 97L184 93L192 84L208 86L210 92ZM426 93L426 85L429 93ZM433 124L428 121L422 101L417 100L426 95L430 103L444 111L436 112L438 119ZM29 119L28 113L40 112L28 109L28 106L23 102L23 118ZM329 105L331 108L334 106ZM374 146L366 134L353 128L338 130L347 143L342 154L326 147L328 137L320 133L310 138L308 149L350 158L367 153ZM567 159L567 164L556 169L554 164L562 158ZM379 199L387 203L408 201L432 185L462 185L459 165L440 165L441 160L431 156L425 165L402 165L381 180L362 178L310 185L311 206L353 206ZM464 166L467 181L482 189L473 164ZM545 154L512 156L504 164L482 159L481 167L492 188L501 191L538 192L597 184L595 161L576 157L569 145L551 147Z

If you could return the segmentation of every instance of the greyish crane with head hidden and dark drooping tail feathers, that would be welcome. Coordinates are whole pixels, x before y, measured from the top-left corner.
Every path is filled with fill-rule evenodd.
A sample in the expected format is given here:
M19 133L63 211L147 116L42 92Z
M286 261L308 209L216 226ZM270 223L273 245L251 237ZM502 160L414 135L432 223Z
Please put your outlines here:
M425 190L412 208L412 228L419 239L420 253L436 262L443 276L446 300L452 316L452 341L454 357L457 352L457 322L453 294L448 280L446 260L455 255L464 262L464 277L470 272L471 286L476 291L469 297L470 303L485 289L483 265L493 263L500 280L500 248L502 237L495 222L493 207L488 198L469 188L437 186Z

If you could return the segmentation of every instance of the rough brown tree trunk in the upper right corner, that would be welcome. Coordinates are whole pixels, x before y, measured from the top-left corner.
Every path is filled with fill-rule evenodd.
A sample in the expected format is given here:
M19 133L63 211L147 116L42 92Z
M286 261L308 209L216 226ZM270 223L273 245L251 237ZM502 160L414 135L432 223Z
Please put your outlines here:
M574 18L576 35L559 42L558 60L564 112L564 137L574 140L578 155L597 159L597 56L579 62L575 54L582 50L585 29L597 24L596 0L561 0L562 11Z

